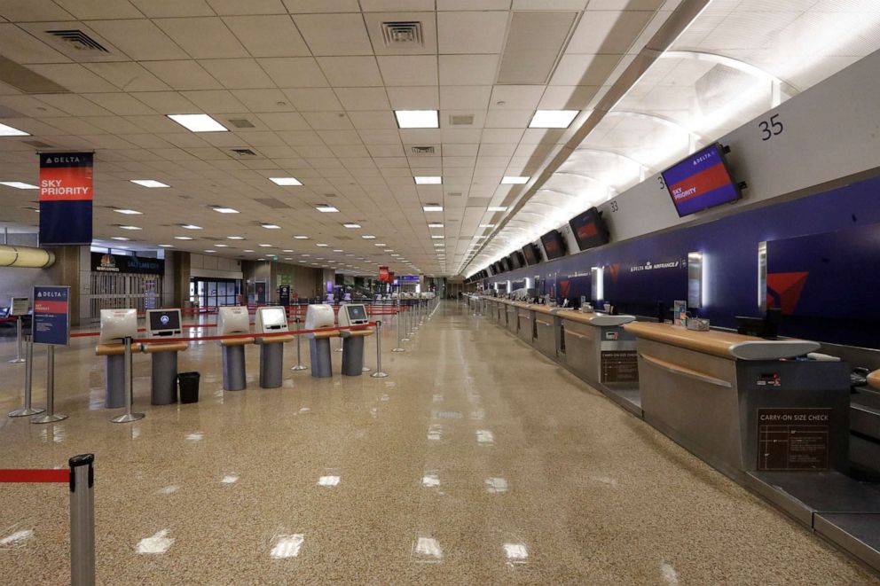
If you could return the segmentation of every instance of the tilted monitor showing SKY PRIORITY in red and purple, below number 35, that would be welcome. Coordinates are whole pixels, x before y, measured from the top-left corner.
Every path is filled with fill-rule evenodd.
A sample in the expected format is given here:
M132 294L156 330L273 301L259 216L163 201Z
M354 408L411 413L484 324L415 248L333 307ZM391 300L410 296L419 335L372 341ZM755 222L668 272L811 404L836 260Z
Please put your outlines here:
M691 154L661 176L679 217L740 198L740 190L727 168L724 147L717 143Z

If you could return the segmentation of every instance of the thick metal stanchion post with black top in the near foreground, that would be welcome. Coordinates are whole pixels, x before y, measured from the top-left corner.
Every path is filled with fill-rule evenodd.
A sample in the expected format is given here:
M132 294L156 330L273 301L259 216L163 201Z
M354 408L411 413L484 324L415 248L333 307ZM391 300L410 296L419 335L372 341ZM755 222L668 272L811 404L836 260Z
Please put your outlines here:
M70 583L95 584L94 454L70 458Z

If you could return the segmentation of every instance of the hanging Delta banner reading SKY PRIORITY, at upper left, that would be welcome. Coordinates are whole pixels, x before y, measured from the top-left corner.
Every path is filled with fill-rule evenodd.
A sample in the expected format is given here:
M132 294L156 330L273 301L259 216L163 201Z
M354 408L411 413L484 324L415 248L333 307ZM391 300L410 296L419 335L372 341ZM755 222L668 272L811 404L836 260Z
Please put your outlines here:
M91 244L91 152L40 153L40 246Z

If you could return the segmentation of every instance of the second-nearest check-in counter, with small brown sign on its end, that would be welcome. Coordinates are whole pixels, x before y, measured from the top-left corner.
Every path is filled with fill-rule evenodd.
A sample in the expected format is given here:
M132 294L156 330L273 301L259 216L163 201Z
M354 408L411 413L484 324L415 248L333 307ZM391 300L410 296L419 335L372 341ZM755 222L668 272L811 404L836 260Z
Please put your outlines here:
M581 379L603 385L634 387L639 382L635 336L624 324L634 316L580 312L562 309L565 364Z

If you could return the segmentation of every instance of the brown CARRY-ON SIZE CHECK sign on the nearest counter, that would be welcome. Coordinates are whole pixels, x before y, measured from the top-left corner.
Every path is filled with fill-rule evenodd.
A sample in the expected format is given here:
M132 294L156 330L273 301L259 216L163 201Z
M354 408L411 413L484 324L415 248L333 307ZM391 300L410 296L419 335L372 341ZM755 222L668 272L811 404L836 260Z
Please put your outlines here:
M828 470L830 409L758 409L758 470Z

